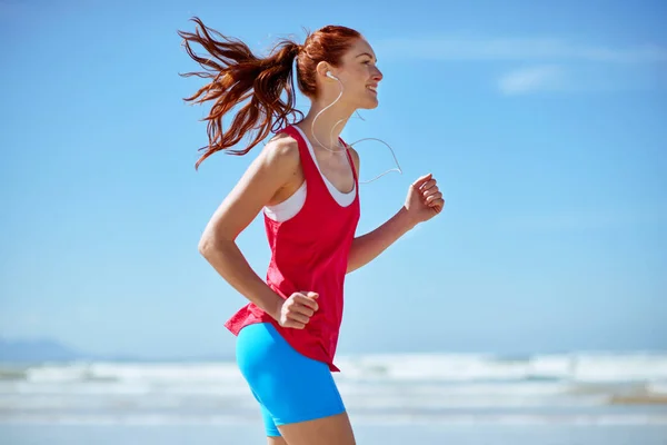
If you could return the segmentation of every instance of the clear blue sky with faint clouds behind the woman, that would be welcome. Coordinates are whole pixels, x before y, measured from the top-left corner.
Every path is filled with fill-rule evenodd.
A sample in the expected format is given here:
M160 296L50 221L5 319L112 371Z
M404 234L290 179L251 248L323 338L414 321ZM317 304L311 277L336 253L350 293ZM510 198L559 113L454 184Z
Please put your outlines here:
M374 46L380 106L344 137L404 175L362 186L359 235L439 180L445 211L348 276L339 354L667 348L667 8L535 3L0 0L0 336L232 353L246 300L197 243L259 149L195 171L198 16L257 53L329 23ZM263 277L260 218L239 246Z

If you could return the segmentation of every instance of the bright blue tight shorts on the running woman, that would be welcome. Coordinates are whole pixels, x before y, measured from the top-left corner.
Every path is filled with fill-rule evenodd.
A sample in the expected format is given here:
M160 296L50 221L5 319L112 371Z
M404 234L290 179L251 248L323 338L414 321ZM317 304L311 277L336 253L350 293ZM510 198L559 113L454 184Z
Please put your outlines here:
M243 327L236 354L259 402L267 436L280 436L277 425L345 412L329 366L298 353L270 323Z

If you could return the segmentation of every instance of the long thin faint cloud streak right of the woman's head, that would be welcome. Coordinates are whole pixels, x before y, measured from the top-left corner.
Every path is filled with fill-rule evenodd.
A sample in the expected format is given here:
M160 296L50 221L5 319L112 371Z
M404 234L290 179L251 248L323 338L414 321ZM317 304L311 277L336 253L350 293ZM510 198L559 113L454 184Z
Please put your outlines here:
M667 48L657 44L605 47L545 38L431 38L387 39L374 42L382 58L477 61L594 61L653 63L667 61Z

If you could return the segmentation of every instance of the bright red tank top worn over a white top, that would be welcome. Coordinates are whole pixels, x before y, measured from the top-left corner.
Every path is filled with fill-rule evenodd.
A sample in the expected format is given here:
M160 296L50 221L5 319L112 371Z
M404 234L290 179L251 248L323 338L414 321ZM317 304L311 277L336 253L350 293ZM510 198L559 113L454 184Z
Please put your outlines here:
M247 325L271 323L296 350L338 372L340 369L334 365L334 356L342 322L348 254L360 216L359 180L350 152L346 150L355 178L356 196L352 204L341 207L327 188L299 131L291 126L281 131L298 142L306 177L306 201L296 216L282 222L265 214L265 227L271 247L267 285L285 299L295 291L316 291L319 294L319 309L306 328L293 329L281 327L273 317L249 303L225 326L238 335Z

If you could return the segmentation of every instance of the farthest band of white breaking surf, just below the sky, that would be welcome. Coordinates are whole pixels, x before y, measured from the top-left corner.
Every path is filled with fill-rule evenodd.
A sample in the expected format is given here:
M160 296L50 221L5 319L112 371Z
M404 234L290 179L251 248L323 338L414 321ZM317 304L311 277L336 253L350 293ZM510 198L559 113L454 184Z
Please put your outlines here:
M339 357L342 374L360 382L511 382L579 383L667 380L667 354L561 354L502 358L479 354L400 354ZM72 363L26 370L31 383L121 382L233 383L243 379L233 362L223 363Z

